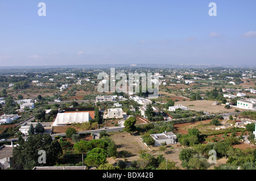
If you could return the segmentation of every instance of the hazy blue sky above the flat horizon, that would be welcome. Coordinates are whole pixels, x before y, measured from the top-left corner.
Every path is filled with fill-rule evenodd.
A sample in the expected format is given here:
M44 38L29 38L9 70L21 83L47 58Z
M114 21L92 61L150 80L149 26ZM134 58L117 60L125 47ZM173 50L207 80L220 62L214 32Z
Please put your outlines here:
M0 66L255 65L255 19L255 0L0 0Z

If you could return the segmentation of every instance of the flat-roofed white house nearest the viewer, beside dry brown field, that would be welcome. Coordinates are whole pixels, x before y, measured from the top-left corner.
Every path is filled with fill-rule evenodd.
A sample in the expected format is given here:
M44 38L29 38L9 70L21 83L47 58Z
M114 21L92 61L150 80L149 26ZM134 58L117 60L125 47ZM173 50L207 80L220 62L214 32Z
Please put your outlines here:
M155 146L161 146L162 142L166 142L167 145L169 144L176 144L177 136L172 132L164 132L158 134L150 134L152 138L155 140Z

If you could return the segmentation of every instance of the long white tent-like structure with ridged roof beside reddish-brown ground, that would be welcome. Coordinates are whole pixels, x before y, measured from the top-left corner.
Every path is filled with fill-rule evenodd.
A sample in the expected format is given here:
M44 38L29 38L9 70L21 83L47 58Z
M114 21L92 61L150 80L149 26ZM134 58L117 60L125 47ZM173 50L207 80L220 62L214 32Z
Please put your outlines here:
M91 119L92 117L90 117L89 112L57 113L56 119L53 123L53 127L58 127L72 123L85 123L89 122L89 120Z

